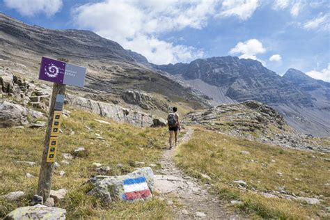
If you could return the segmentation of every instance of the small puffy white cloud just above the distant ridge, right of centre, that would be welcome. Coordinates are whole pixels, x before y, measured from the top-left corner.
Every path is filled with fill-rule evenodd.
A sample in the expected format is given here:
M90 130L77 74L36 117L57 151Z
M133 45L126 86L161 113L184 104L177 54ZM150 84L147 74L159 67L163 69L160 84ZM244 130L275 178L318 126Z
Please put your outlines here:
M239 58L258 60L256 55L265 52L266 49L262 47L262 43L259 40L250 39L245 42L238 42L234 48L230 49L229 54L242 54Z

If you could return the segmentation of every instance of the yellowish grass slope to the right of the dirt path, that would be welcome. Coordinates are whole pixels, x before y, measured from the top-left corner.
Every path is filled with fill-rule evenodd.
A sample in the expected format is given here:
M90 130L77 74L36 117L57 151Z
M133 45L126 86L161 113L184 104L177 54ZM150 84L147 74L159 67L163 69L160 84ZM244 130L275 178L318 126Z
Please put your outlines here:
M242 151L249 154L242 154ZM324 217L330 205L329 154L290 150L210 132L195 130L175 155L178 165L196 178L206 173L219 198L242 201L237 207L257 218L308 219ZM283 173L283 175L278 175ZM239 189L235 180L244 180ZM304 197L320 196L320 205L309 205L285 198L265 198L261 192L279 191ZM325 219L325 217L324 217Z

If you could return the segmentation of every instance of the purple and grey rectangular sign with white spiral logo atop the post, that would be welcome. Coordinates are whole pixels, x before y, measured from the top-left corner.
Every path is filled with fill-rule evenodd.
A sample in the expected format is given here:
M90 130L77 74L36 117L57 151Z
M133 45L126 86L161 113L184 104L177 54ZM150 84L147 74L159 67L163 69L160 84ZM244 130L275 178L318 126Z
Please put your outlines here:
M41 80L84 87L85 76L86 68L42 56L39 72L39 79Z

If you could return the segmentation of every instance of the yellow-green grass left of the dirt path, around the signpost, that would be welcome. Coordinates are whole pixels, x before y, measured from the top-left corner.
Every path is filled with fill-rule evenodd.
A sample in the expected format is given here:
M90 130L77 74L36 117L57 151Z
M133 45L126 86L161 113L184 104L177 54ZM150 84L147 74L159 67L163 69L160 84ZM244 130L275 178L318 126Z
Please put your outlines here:
M113 202L104 205L93 196L86 196L86 180L97 175L93 162L112 168L110 175L123 175L134 170L134 162L157 164L162 148L167 146L164 128L140 128L118 124L84 111L70 110L69 118L64 118L60 135L56 162L61 164L62 154L84 147L89 154L68 160L56 168L52 189L68 189L68 194L58 207L67 210L68 219L167 219L171 218L171 208L164 201L153 198L146 202ZM94 119L107 120L111 125L98 123ZM92 129L92 130L90 130ZM72 134L74 132L74 134ZM100 134L105 140L96 139ZM0 219L17 207L29 205L36 193L42 143L45 128L42 129L0 129L0 194L10 191L24 191L19 201L8 202L0 198ZM36 166L16 164L16 161L36 162ZM118 167L117 164L123 164ZM59 171L65 171L63 177ZM31 173L36 178L26 178Z

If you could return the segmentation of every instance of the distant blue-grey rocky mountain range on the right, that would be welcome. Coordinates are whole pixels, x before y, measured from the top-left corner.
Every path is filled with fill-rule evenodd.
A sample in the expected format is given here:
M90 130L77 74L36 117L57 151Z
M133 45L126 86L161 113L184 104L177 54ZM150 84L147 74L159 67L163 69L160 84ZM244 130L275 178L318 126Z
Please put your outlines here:
M296 77L291 70L281 77L258 61L233 56L153 67L173 74L216 103L256 100L279 111L301 132L330 134L329 87L323 81L306 78L305 74L306 77ZM317 94L320 91L322 95Z

